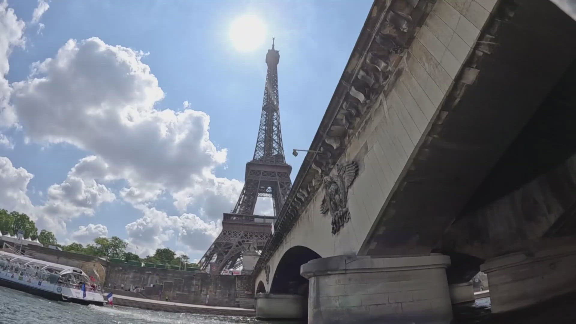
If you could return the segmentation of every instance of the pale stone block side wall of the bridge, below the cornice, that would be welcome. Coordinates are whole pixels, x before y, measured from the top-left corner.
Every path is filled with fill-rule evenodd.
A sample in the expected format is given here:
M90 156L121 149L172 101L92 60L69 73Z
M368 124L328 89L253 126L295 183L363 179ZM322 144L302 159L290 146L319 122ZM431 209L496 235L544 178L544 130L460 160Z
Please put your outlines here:
M410 167L411 157L494 6L494 1L486 1L486 7L474 2L471 10L458 6L464 1L456 1L455 6L449 3L435 3L397 66L395 84L386 95L381 93L376 98L372 111L346 138L346 151L339 163L359 164L358 178L348 191L350 222L332 235L331 218L320 214L324 190L317 191L268 262L268 282L265 272L259 273L256 284L262 281L266 291L270 291L276 265L290 247L305 246L323 258L357 254L362 247L374 220L399 185L398 180ZM346 70L353 70L356 64L357 60L351 58Z

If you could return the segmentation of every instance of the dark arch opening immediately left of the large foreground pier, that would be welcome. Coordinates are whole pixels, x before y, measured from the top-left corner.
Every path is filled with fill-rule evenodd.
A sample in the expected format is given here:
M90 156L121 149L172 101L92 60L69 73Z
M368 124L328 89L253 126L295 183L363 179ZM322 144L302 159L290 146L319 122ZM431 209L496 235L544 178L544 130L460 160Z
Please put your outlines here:
M293 246L283 255L272 277L270 293L293 293L308 296L308 279L300 275L300 266L321 258L319 254L305 246Z

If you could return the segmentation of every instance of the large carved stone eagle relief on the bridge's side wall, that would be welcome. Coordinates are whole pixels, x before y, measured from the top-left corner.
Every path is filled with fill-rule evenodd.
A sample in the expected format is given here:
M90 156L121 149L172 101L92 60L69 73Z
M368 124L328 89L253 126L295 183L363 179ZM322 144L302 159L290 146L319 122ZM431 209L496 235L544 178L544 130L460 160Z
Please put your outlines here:
M336 174L325 176L322 180L324 198L320 212L332 216L332 235L340 231L350 220L348 211L348 188L358 176L358 163L351 161L336 165Z

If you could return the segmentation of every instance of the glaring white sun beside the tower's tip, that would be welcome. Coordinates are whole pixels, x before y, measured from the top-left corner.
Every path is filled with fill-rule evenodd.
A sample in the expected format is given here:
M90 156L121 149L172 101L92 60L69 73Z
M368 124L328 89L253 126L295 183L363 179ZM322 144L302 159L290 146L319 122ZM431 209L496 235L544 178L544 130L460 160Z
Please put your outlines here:
M264 37L266 25L256 16L238 17L230 25L230 40L238 51L256 50L264 43Z

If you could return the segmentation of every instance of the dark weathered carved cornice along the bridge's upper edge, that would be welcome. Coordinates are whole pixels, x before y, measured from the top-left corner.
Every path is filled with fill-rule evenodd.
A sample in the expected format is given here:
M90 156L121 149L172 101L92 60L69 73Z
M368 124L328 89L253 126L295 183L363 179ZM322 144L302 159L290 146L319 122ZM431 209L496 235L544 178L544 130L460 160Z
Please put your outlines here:
M397 66L435 0L376 0L274 224L274 234L256 263L257 275L283 242L336 165L362 121L401 73Z

